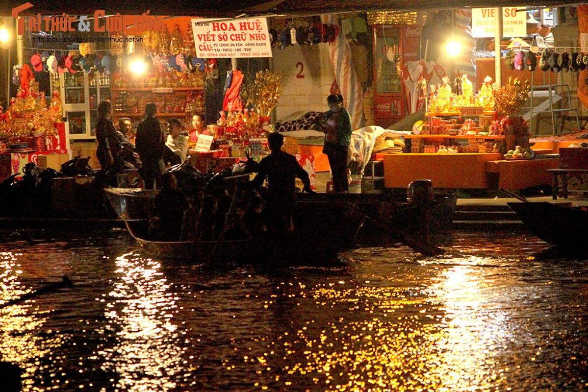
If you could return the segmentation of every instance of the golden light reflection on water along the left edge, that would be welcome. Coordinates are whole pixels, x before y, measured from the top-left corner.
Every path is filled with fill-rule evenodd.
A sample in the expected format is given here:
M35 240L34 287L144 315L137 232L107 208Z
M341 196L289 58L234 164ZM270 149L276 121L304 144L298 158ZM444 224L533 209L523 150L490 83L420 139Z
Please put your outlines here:
M51 353L62 346L64 339L57 334L42 333L48 312L36 309L32 300L2 306L33 291L22 282L23 272L18 262L21 256L10 252L0 255L0 359L21 367L23 391L40 392L51 390L52 384L59 383L59 377L52 377L35 386L34 378L43 372L55 375L62 370L51 363L54 359ZM46 363L44 357L50 362ZM1 383L0 379L0 390Z

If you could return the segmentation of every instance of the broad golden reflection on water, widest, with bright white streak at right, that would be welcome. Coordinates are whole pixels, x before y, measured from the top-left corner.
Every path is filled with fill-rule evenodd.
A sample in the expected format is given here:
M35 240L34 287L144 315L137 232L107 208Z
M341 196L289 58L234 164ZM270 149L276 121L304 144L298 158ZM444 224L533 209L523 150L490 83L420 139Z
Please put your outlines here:
M275 368L285 371L259 386L271 389L278 383L285 390L311 391L508 390L509 368L497 353L506 349L518 326L507 310L496 306L502 289L487 282L495 269L485 266L492 260L446 258L432 263L440 264L423 262L420 269L413 263L407 269L400 265L397 272L412 273L374 276L355 284L320 283L301 292L299 297L315 301L313 319L301 323L294 336L278 336L263 355L245 358L258 363L258 372L268 377ZM505 282L513 283L504 288L505 295L525 290ZM329 314L340 317L329 319Z

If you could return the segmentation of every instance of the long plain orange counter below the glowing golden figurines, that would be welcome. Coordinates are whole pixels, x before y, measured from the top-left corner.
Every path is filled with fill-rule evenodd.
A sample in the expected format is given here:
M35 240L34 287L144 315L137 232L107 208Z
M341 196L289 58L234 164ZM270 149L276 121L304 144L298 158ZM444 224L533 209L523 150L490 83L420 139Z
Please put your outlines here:
M384 183L388 188L405 188L410 182L430 179L436 188L479 188L488 186L486 162L502 158L499 153L403 153L386 154Z

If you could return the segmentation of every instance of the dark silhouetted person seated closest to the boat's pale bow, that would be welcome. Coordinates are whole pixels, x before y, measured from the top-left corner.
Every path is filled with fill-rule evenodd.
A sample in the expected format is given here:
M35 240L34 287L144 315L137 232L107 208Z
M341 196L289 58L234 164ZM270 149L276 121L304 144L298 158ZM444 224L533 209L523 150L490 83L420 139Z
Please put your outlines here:
M172 173L161 176L161 190L155 196L155 217L150 220L152 234L159 240L177 241L182 231L183 215L189 209L188 197Z

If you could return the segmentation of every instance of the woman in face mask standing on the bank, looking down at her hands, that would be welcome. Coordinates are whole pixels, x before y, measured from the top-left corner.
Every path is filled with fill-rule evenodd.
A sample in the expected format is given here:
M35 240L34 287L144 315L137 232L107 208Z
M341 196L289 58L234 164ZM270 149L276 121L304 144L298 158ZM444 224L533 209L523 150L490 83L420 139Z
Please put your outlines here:
M325 112L323 120L324 132L326 133L323 153L329 158L329 166L333 174L333 189L337 193L347 192L351 118L348 111L343 108L341 95L329 95L327 105L329 105L329 110Z

